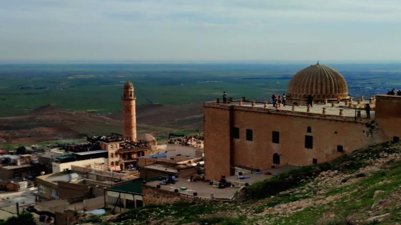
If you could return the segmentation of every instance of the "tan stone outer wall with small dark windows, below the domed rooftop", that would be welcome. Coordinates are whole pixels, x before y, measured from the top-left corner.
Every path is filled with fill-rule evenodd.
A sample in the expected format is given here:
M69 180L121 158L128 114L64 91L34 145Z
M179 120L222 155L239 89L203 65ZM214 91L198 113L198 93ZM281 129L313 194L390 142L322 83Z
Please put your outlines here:
M230 140L230 118L232 125L239 128L239 139ZM311 133L307 132L308 126ZM252 141L245 140L246 129L252 130ZM272 143L272 131L279 132L279 143ZM306 135L313 137L312 149L305 148ZM233 175L230 165L270 168L274 153L280 155L279 165L301 166L312 164L313 159L317 163L327 162L384 141L386 137L375 123L314 118L313 114L309 117L275 114L252 108L204 107L205 175L210 180ZM343 152L337 152L337 145L343 147Z

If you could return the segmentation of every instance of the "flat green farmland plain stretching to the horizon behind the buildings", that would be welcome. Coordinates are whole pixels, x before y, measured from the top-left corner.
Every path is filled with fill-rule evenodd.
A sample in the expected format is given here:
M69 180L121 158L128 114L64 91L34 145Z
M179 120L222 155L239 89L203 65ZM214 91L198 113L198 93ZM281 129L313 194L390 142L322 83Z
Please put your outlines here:
M286 92L307 65L285 64L63 64L0 65L0 117L24 115L51 103L114 113L123 82L134 83L137 104L188 105L228 97L268 100ZM400 64L329 65L347 79L350 94L371 96L401 87Z

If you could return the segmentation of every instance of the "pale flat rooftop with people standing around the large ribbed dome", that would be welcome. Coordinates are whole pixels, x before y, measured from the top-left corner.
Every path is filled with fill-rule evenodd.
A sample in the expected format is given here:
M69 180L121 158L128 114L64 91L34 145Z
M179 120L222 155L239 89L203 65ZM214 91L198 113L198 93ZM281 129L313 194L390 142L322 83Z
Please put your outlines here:
M351 105L349 104L351 103ZM366 118L366 112L364 109L364 105L369 103L370 110L370 119ZM253 104L253 106L252 106ZM376 101L369 100L358 101L353 100L352 102L341 101L339 103L334 102L334 106L332 106L331 102L328 103L314 103L313 107L309 108L306 105L286 105L278 108L273 107L272 103L267 103L265 106L265 102L254 102L252 101L240 101L234 100L231 103L223 103L223 102L205 102L205 107L223 107L230 108L233 107L236 109L243 110L254 110L254 111L266 111L270 113L276 114L285 114L285 115L293 115L293 116L304 116L304 117L320 117L326 119L334 119L334 120L353 120L366 123L368 121L374 120L375 118L375 106ZM325 112L323 113L323 108L325 108ZM360 117L357 116L357 111L360 110ZM340 115L340 111L342 111L342 115Z

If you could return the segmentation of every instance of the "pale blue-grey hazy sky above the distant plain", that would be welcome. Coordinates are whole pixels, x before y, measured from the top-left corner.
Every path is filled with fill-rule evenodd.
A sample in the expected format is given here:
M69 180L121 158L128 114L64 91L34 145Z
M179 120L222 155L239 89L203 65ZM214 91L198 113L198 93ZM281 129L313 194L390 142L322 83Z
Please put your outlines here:
M0 0L0 61L401 61L401 0Z

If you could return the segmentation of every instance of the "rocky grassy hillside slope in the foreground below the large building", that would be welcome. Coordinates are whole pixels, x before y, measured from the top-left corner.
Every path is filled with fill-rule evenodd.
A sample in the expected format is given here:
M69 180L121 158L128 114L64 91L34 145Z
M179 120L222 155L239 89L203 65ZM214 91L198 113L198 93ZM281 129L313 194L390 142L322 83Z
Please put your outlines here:
M240 191L236 203L147 205L87 218L119 225L358 225L401 221L401 145L380 144ZM82 221L83 223L85 221Z

